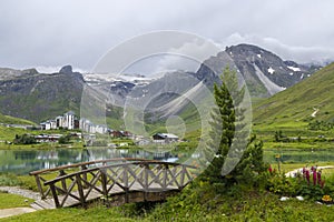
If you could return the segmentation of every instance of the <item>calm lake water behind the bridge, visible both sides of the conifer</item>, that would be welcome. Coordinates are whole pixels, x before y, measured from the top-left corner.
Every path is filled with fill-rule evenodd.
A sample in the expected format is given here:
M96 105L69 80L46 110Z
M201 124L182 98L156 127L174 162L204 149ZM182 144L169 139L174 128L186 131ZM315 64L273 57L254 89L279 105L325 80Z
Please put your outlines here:
M302 162L334 162L333 150L265 150L264 160L268 163L277 162L276 155L283 163ZM191 154L191 153L190 153ZM0 150L0 172L12 172L27 174L31 171L55 168L58 165L72 164L92 160L105 160L111 158L145 158L149 160L161 160L176 162L181 155L173 152L148 152L143 150L117 150L110 148L80 149L55 149L55 150Z

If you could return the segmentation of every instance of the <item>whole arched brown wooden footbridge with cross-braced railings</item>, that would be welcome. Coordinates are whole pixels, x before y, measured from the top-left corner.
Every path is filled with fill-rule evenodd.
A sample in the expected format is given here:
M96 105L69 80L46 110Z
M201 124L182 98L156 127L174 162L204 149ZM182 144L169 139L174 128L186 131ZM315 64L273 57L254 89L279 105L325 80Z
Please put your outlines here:
M109 159L30 172L41 200L36 209L159 201L185 188L195 167L145 159Z

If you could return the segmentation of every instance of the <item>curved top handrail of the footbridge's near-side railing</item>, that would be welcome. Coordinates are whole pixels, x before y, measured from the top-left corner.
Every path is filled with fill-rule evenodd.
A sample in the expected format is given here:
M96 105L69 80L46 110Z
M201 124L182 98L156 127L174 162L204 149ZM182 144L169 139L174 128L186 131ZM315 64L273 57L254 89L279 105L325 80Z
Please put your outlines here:
M69 173L69 174L66 174L66 175L61 175L61 176L57 176L52 180L49 180L49 181L46 181L43 184L45 185L50 185L52 183L57 183L61 180L66 180L68 178L72 178L72 176L76 176L77 174L85 174L85 173L90 173L92 171L97 171L97 170L101 170L101 169L108 169L108 168L118 168L118 167L122 167L122 165L130 165L130 164L163 164L163 165L181 165L181 167L185 167L185 168L190 168L190 169L197 169L196 167L194 165L187 165L187 164L181 164L181 163L173 163L173 162L161 162L161 161L154 161L154 160L145 160L145 161L138 161L138 162L130 162L130 163L117 163L117 164L111 164L111 165L101 165L101 167L96 167L96 168L91 168L91 169L87 169L87 170L81 170L81 171L78 171L78 172L73 172L73 173Z

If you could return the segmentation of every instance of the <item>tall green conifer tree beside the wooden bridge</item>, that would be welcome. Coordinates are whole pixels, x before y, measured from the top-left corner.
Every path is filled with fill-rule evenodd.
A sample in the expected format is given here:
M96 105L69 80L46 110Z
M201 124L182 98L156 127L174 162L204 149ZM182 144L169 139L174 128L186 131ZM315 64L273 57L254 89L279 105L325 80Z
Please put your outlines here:
M217 109L212 113L210 140L205 150L209 165L202 178L220 186L254 182L265 167L262 142L249 137L250 129L245 123L245 109L240 105L245 87L239 88L236 72L228 67L220 78L222 84L214 85Z

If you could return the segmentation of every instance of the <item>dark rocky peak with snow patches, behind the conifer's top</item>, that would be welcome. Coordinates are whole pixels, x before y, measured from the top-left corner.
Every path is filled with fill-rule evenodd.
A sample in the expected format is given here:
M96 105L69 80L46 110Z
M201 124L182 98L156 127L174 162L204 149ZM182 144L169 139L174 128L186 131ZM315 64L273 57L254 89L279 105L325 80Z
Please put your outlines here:
M311 77L320 65L303 65L293 61L283 61L278 56L252 44L238 44L226 48L224 52L212 57L197 71L199 79L213 78L213 71L220 73L228 64L226 53L243 74L252 97L266 98L281 92ZM208 70L206 67L213 70Z

